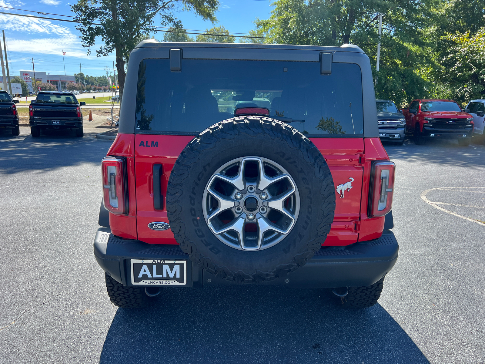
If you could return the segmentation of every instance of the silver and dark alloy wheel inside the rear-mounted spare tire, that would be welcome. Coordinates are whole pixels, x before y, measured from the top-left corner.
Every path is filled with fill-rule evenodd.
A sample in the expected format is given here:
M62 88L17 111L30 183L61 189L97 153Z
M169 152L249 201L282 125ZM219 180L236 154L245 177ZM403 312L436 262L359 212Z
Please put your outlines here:
M207 225L224 244L239 250L263 250L291 232L298 219L300 196L281 165L267 158L241 157L214 172L202 206Z

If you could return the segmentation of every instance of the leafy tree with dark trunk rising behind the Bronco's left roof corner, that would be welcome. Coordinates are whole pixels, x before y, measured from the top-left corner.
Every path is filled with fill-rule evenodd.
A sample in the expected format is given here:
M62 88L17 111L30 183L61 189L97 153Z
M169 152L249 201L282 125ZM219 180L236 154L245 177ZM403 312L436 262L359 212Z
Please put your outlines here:
M76 29L88 54L98 38L104 42L96 50L98 57L115 52L121 99L126 60L141 35L156 31L155 17L159 16L162 26L173 25L178 23L173 12L187 10L213 22L218 6L218 0L78 0L71 10L74 20L81 23Z

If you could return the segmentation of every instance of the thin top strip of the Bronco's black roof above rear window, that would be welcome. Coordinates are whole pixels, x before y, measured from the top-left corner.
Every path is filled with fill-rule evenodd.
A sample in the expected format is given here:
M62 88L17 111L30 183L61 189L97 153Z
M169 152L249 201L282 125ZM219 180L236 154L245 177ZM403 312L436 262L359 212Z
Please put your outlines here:
M299 46L292 44L252 44L252 43L196 43L196 42L157 42L155 39L146 39L140 42L135 48L147 47L170 47L170 48L247 48L247 49L274 49L274 50L316 50L334 52L358 52L364 53L355 44L344 44L340 47L326 46Z

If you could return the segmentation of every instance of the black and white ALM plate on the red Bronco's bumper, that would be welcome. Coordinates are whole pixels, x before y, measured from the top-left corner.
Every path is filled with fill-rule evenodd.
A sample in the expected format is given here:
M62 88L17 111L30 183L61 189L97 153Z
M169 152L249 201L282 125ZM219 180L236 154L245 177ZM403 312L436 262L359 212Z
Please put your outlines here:
M131 284L185 285L187 261L131 259Z

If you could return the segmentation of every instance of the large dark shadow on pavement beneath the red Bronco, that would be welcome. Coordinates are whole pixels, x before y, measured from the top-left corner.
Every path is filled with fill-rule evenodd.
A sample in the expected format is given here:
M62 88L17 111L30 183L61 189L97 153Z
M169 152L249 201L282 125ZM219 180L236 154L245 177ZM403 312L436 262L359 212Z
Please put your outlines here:
M429 363L379 304L344 309L323 289L165 288L119 308L100 363Z

